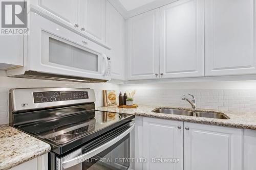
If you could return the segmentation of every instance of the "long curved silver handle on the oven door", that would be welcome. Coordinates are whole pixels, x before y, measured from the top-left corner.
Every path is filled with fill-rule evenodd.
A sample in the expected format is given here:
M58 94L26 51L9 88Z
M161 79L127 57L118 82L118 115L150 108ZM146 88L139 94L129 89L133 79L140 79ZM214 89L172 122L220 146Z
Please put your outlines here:
M72 158L70 160L67 161L63 161L62 162L62 167L67 169L69 167L75 166L79 163L82 163L83 161L92 158L93 156L101 153L102 151L104 151L105 149L108 149L109 147L111 147L113 144L115 144L116 142L118 142L119 140L121 140L123 137L125 137L127 134L129 134L133 129L134 129L134 124L127 129L126 131L124 131L121 135L115 137L114 139L111 139L110 141L102 144L100 147L93 149L85 154L82 154L80 156L77 156L75 158Z

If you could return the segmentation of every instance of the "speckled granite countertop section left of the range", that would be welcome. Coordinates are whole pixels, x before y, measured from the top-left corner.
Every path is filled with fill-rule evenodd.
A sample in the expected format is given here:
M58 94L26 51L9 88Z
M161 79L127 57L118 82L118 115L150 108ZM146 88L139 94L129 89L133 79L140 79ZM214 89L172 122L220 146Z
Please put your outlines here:
M0 170L10 169L50 151L48 143L9 125L0 125Z

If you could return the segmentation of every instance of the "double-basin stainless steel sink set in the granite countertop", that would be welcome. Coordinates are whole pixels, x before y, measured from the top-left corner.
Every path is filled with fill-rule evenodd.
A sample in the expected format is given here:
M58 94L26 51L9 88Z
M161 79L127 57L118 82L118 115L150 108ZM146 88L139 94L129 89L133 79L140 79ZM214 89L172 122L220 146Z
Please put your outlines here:
M207 118L219 118L219 119L229 119L227 115L221 112L205 112L200 110L189 111L171 108L156 108L152 112L155 113L165 113L165 114L176 114L183 116L196 116L196 117L207 117Z

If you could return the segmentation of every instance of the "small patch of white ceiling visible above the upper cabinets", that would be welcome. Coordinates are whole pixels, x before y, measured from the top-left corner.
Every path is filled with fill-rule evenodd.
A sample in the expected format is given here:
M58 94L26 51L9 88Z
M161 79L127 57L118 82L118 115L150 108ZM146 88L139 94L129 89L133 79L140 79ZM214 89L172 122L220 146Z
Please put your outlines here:
M126 11L134 10L154 1L158 0L119 0L119 2L126 9Z

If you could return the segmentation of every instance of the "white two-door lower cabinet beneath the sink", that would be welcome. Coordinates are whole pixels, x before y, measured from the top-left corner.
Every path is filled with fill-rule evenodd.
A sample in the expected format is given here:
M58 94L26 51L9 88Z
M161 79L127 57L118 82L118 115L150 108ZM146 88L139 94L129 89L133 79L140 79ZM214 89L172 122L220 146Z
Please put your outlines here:
M148 117L136 119L135 157L146 161L135 164L135 169L243 169L243 129ZM256 131L248 134L244 141L249 147L245 146L244 151L251 155L244 156L249 163L244 163L244 170L256 167L252 161L256 155ZM180 163L156 163L156 159L179 159Z

